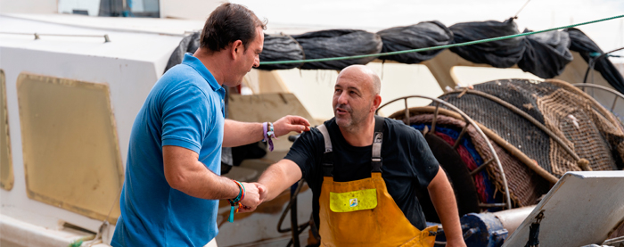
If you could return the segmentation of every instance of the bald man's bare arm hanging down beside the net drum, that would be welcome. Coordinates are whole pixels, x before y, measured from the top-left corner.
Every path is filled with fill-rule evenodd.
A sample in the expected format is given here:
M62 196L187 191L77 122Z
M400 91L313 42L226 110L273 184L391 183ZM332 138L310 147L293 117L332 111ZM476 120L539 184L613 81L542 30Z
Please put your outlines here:
M459 212L453 188L448 183L447 174L443 169L438 170L427 187L431 196L431 202L438 212L444 234L447 236L447 246L466 246L462 227L459 224Z

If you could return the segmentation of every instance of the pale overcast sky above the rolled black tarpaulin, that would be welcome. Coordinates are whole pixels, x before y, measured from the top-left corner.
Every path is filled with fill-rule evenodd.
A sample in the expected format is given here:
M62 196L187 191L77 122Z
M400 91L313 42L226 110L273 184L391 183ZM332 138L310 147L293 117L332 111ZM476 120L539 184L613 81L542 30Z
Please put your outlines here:
M244 4L271 24L324 28L386 29L420 21L451 26L465 21L505 21L526 0L232 0ZM550 29L624 14L624 0L530 0L516 23L523 29ZM579 27L603 51L624 46L624 19ZM624 52L620 53L624 55ZM617 62L624 62L618 59ZM614 62L616 62L614 61Z

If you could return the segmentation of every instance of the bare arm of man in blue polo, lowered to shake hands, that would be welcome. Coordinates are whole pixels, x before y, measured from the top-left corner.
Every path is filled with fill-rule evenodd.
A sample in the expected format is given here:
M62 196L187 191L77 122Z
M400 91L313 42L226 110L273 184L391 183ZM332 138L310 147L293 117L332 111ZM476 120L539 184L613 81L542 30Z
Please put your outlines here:
M165 178L168 184L188 195L203 199L234 199L240 189L234 181L220 177L198 161L199 154L179 146L162 147ZM243 205L255 209L259 202L258 187L242 183L245 186Z

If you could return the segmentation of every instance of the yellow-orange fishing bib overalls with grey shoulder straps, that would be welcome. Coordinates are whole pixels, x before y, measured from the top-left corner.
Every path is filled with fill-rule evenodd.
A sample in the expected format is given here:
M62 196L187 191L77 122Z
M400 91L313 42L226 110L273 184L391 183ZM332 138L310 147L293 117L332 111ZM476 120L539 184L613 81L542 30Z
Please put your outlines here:
M383 118L375 116L370 178L333 181L332 141L324 125L323 185L319 197L321 246L433 246L438 226L419 230L403 214L382 178Z

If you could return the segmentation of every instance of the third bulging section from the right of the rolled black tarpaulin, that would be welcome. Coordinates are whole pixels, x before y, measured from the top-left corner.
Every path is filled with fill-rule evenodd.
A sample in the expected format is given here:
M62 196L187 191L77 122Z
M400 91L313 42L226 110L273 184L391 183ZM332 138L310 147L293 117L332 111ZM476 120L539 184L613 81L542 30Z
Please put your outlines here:
M454 34L454 43L464 43L492 37L504 37L518 34L518 28L513 21L479 21L464 22L450 26ZM467 61L486 63L496 68L509 68L518 63L525 46L524 37L513 37L498 41L480 43L476 45L457 46L450 48Z

